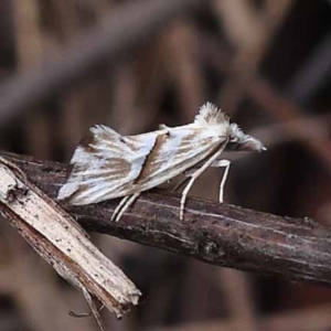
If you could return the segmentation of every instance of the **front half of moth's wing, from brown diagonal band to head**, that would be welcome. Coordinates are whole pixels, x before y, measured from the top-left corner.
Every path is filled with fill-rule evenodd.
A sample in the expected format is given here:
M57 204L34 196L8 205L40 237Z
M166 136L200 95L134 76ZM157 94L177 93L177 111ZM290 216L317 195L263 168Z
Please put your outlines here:
M171 128L159 136L137 185L141 191L154 188L224 149L226 142L226 136L194 125Z

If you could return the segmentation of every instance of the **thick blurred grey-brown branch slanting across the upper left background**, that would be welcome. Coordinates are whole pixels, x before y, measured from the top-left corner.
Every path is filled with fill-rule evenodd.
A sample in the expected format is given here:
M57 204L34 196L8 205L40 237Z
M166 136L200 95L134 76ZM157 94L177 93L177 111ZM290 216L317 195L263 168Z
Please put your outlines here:
M0 87L0 125L41 100L65 90L105 62L122 61L167 22L202 4L201 0L146 0L121 6L100 26L77 38L60 56L50 56L42 68L31 68Z

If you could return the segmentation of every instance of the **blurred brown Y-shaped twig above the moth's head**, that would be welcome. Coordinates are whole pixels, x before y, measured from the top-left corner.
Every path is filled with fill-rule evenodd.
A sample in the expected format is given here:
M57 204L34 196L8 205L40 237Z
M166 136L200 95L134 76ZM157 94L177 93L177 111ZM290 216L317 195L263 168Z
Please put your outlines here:
M258 65L293 1L267 3L261 14L253 10L248 2L244 3L237 0L216 2L225 28L238 47L232 63L231 75L220 90L222 107L232 116L245 97L246 86L257 74Z

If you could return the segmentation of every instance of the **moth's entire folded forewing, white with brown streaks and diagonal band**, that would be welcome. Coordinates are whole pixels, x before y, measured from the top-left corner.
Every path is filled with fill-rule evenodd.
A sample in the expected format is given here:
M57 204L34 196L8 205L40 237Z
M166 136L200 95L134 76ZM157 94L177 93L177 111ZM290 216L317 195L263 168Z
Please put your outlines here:
M197 164L215 146L225 140L225 137L218 137L192 125L172 128L170 134L168 130L170 128L141 135L141 145L137 145L135 150L125 150L121 146L132 138L136 140L138 136L107 141L108 146L116 145L118 149L124 150L121 156L116 157L113 154L113 147L106 148L105 142L103 147L94 142L95 149L103 149L103 160L99 160L95 152L79 146L72 161L74 167L71 175L61 188L57 199L67 199L72 204L88 204L149 190ZM150 141L149 135L154 138L154 146L150 152L143 146L145 139ZM137 154L137 150L143 153ZM79 153L83 157L78 159ZM117 164L118 158L126 162L126 167L136 171L129 172L122 167L124 171L106 172L108 167ZM141 158L145 158L145 162L141 162Z

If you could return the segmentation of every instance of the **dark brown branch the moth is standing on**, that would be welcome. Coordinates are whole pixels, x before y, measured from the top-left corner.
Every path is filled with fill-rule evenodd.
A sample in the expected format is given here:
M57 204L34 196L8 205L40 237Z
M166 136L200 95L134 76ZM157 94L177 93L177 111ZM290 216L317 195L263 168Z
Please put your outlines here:
M0 152L51 197L67 166ZM280 217L239 206L189 199L179 221L179 195L145 193L110 222L118 200L88 206L61 205L86 229L168 249L200 260L292 280L331 285L331 229L310 218Z

